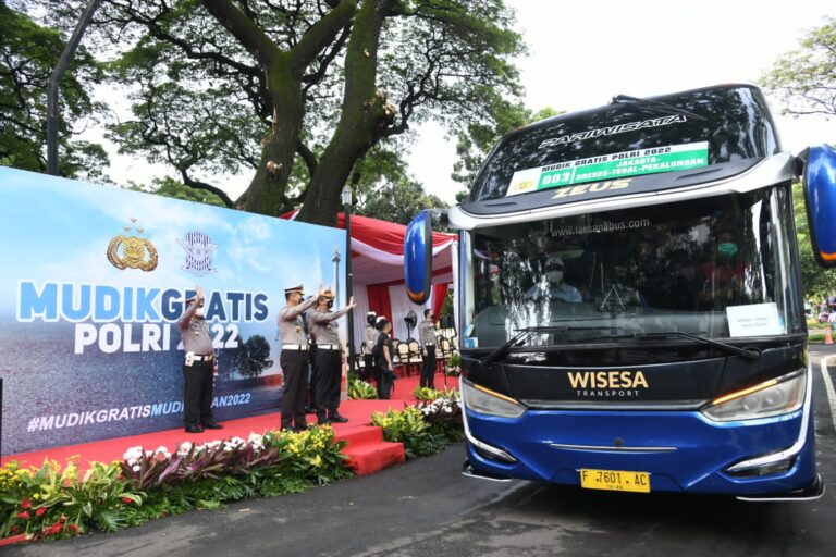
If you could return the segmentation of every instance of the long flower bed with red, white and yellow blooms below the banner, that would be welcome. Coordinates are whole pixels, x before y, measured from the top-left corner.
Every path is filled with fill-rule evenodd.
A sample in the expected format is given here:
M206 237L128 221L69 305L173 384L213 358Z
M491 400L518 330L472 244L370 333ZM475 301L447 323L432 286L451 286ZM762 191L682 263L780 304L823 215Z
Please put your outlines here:
M268 432L205 445L184 443L145 450L132 447L122 461L93 462L78 478L75 462L0 468L0 537L69 537L111 532L194 508L303 492L352 475L345 442L330 426L302 433Z

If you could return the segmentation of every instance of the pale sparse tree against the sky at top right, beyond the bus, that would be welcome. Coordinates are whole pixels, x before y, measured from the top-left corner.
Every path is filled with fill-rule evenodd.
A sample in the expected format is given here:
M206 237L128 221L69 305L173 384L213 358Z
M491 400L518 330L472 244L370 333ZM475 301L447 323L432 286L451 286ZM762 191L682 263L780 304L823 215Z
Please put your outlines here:
M783 54L761 78L777 96L785 114L836 115L836 20L825 17L801 41L801 49Z

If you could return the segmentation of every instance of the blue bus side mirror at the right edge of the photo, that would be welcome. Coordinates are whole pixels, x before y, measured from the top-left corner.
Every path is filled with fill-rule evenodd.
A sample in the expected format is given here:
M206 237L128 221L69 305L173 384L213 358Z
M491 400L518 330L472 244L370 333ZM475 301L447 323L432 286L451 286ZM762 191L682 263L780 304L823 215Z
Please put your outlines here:
M836 149L811 147L804 161L803 188L810 244L822 267L836 267Z

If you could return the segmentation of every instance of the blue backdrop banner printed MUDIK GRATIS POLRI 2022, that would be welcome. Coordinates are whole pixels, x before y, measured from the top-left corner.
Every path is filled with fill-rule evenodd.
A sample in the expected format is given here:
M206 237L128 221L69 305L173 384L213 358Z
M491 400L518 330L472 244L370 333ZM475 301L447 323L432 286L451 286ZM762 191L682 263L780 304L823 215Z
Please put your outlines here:
M197 285L216 418L278 411L284 288L344 276L344 231L1 166L0 235L7 455L182 426Z

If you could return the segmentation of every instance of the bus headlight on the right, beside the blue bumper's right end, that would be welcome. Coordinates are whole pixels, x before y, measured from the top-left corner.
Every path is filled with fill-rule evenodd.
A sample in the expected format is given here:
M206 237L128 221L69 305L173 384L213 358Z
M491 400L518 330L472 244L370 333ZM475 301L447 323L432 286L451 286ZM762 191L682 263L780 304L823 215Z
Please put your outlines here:
M730 422L795 412L804 403L806 387L807 370L796 371L722 396L702 413L718 422Z

